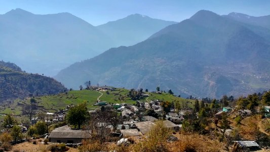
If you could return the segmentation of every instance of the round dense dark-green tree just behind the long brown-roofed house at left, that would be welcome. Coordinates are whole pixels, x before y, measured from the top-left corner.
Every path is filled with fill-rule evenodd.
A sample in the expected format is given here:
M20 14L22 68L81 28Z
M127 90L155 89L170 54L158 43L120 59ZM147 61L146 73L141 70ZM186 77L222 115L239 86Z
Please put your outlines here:
M66 120L70 125L81 129L82 124L86 121L89 113L87 111L86 103L73 106L69 109Z

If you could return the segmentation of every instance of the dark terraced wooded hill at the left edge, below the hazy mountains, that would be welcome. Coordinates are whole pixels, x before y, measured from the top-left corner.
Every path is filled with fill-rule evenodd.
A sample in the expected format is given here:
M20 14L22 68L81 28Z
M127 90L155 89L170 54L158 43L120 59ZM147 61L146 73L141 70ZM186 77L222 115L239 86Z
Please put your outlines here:
M58 94L67 89L53 78L29 74L14 63L0 61L0 102L28 97L29 94Z

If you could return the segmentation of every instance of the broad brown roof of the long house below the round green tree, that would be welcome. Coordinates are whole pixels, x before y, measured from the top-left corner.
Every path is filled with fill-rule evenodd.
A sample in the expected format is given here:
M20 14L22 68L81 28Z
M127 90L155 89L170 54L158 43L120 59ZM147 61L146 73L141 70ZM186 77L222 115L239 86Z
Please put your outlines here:
M83 130L73 130L66 125L53 130L49 138L90 138L90 134Z

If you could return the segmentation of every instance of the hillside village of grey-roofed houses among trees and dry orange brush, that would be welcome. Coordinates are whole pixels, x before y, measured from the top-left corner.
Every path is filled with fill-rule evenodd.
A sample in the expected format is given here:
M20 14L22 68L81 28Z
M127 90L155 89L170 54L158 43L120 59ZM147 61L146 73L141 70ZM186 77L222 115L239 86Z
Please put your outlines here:
M14 144L13 149L17 145L31 141L34 144L47 145L49 150L52 146L57 148L57 145L62 143L61 146L65 146L66 150L70 148L84 151L82 148L88 149L89 145L97 142L101 149L96 151L108 150L105 146L107 144L114 145L112 149L121 146L122 150L129 151L137 144L150 140L149 134L155 129L157 132L160 131L159 129L165 129L164 131L168 133L164 136L165 145L178 143L183 136L195 135L217 141L221 146L212 145L215 149L213 151L269 150L270 148L270 106L268 106L270 91L259 93L259 96L253 94L233 101L230 101L232 97L223 96L220 100L203 98L199 101L193 98L182 102L169 102L153 97L151 100L148 99L149 95L162 95L164 91L145 92L142 89L131 89L127 96L134 98L134 102L111 103L100 98L103 94L108 95L118 90L117 88L87 86L85 89L81 88L81 91L84 90L101 93L91 108L88 108L87 102L81 102L78 105L69 104L65 108L49 112L37 104L37 98L40 97L31 97L29 100L31 106L22 106L22 115L31 120L28 124L25 120L19 123L13 116L5 115L3 124L6 125L2 125L3 133L11 132L12 135L12 127L14 125L20 127L18 134L21 137L8 141ZM174 95L172 93L168 96ZM252 103L253 100L255 103ZM7 119L12 121L7 122ZM252 127L254 130L250 130ZM155 138L156 136L158 135L155 135ZM3 135L2 138L4 139ZM2 141L4 142L7 141ZM194 149L197 148L196 151L203 151L195 145L186 146L186 148L194 146ZM174 151L167 148L169 151Z

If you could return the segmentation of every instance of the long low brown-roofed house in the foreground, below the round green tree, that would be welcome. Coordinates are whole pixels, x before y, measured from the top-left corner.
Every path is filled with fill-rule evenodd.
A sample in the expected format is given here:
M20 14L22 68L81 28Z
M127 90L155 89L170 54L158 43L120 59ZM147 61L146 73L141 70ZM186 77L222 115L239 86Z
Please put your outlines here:
M83 139L90 138L90 134L83 130L73 130L69 126L54 129L49 139L55 143L81 143Z

